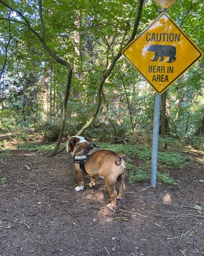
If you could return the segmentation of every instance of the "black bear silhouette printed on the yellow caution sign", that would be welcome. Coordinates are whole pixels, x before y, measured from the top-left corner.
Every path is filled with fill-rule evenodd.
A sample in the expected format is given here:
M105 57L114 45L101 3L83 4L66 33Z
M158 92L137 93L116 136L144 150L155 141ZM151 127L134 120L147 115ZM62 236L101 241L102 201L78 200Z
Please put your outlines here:
M161 58L160 60L164 60L164 56L169 57L168 63L176 60L176 47L172 45L152 44L147 50L154 52L154 58L151 61L157 61L159 57Z

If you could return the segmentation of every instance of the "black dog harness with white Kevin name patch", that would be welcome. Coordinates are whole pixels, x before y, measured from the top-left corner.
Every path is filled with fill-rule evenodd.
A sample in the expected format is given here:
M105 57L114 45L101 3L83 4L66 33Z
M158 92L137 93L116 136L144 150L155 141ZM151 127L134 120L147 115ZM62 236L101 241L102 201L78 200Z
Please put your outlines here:
M80 168L86 172L84 163L88 161L89 157L96 153L99 148L94 143L89 143L87 148L84 151L81 151L78 155L73 157L74 163L79 163ZM91 152L89 152L91 151ZM87 173L87 172L86 172ZM88 174L88 173L87 173Z

